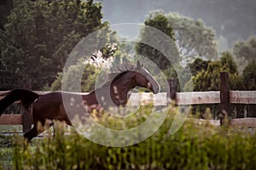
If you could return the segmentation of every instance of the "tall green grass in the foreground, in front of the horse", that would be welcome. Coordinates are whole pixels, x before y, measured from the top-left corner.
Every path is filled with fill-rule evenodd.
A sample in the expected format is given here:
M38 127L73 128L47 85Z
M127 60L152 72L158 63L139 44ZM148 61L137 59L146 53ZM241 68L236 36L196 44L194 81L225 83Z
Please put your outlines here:
M143 113L148 115L147 113ZM161 114L161 113L158 113ZM142 115L144 116L144 115ZM151 137L127 147L95 144L78 133L44 138L24 150L15 140L15 169L254 169L256 135L185 122L170 135L172 113ZM141 121L132 119L132 121ZM131 122L130 122L131 123ZM115 122L114 126L117 126ZM93 131L92 131L93 133ZM97 134L95 134L97 135ZM99 138L102 134L99 133ZM102 138L104 139L104 138ZM116 138L116 140L119 140ZM125 139L129 140L129 139Z

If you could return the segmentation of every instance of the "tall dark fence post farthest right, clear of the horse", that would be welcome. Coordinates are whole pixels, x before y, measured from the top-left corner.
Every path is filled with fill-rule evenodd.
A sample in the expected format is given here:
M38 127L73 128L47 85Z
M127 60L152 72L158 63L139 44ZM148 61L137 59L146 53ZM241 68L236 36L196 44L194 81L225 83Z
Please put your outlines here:
M220 73L220 124L223 125L229 119L230 114L230 85L229 74Z

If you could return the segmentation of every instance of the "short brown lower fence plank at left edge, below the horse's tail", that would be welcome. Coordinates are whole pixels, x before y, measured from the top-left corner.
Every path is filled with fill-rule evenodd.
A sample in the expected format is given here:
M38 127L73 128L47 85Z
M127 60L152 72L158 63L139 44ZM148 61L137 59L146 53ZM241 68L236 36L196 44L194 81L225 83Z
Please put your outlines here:
M0 116L0 125L21 125L22 115L2 115Z

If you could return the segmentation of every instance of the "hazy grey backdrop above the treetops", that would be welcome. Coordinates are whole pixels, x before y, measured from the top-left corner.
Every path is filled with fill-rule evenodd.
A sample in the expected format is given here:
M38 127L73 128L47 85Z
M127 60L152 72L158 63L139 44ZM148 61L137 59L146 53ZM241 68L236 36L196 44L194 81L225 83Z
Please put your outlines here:
M102 0L102 5L103 20L111 24L143 23L149 11L162 9L204 20L230 44L256 34L255 0ZM136 34L130 28L121 30Z

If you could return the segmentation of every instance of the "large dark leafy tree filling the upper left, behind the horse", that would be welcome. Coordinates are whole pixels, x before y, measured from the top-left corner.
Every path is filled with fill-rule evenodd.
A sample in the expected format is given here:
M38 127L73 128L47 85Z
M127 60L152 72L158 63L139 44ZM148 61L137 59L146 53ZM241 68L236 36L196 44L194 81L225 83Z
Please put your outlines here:
M81 38L107 26L101 9L92 0L15 1L0 32L1 88L49 86Z

